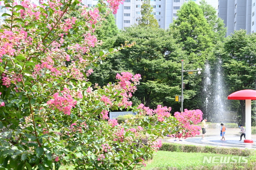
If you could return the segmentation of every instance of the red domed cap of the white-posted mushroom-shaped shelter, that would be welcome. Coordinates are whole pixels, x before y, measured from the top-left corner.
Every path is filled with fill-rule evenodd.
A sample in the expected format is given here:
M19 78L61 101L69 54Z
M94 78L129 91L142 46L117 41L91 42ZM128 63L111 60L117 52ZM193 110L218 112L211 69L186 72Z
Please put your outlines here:
M228 96L229 100L256 100L256 90L240 90Z

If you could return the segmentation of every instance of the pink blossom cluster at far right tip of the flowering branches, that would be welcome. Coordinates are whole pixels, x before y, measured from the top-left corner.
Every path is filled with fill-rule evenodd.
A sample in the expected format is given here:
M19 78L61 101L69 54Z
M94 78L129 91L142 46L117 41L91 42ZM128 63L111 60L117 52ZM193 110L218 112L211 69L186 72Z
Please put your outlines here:
M179 121L179 126L183 128L182 133L177 134L178 137L194 137L200 134L201 127L195 126L202 120L201 110L187 110L184 112L175 112L174 117Z

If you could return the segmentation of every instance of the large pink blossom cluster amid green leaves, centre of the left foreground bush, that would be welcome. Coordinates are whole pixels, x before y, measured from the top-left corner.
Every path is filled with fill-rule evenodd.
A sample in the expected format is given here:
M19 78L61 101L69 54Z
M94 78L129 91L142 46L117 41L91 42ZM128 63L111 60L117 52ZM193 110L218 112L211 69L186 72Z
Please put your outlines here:
M75 107L76 102L77 101L70 95L69 89L64 88L64 90L61 91L61 95L54 93L53 99L50 99L47 104L49 108L56 108L64 114L70 115L70 111L72 107Z

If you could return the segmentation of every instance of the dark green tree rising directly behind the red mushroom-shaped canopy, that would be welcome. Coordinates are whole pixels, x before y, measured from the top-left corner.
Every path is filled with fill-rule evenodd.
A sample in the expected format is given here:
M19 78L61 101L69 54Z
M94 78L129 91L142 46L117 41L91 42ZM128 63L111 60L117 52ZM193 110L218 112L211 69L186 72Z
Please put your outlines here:
M226 38L217 55L223 60L224 75L229 82L230 93L255 89L256 34L246 30L234 31ZM245 100L240 100L242 124L245 124Z

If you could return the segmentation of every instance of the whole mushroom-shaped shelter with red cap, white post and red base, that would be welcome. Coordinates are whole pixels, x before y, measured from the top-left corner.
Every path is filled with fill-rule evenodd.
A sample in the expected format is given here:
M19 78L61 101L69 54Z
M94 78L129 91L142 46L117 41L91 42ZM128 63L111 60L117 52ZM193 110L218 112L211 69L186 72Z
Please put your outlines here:
M245 100L245 143L253 143L251 139L251 100L256 100L256 90L240 90L228 96L229 100Z

